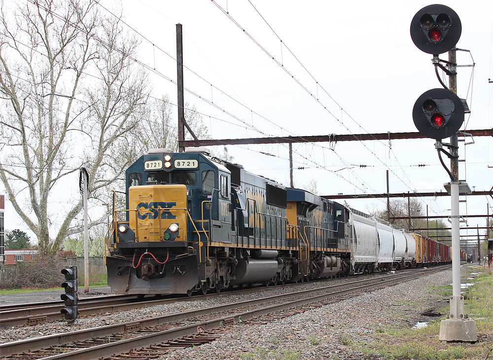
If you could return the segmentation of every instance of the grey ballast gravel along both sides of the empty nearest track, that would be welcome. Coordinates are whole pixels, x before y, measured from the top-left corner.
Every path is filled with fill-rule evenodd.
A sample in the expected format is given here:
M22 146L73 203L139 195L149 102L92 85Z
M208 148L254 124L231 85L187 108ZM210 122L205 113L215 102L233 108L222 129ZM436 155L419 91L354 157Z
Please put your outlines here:
M354 279L332 279L323 283L303 283L291 291L335 285ZM359 279L358 279L359 280ZM366 359L363 353L346 346L351 341L371 343L378 339L380 329L411 327L432 318L420 315L446 302L439 287L452 282L452 271L442 271L397 286L367 292L304 313L267 324L244 322L218 330L218 338L202 346L170 352L160 360L229 360L229 359ZM285 291L285 290L284 290ZM2 343L79 329L119 324L154 316L179 313L271 296L281 289L228 295L205 300L191 300L174 304L115 312L104 316L79 318L75 324L49 323L2 329ZM4 295L2 295L4 296Z

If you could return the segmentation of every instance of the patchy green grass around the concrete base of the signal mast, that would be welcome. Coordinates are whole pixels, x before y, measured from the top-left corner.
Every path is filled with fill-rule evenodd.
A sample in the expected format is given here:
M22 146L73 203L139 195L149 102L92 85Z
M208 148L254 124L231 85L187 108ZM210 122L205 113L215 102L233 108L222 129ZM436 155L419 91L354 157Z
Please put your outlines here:
M478 341L472 343L445 343L439 340L440 321L433 320L428 326L375 330L375 341L362 343L357 338L341 337L341 344L359 350L366 357L403 360L451 360L486 359L493 357L493 274L483 267L474 268L480 275L475 285L468 289L466 313L475 318ZM430 293L448 295L451 287L430 287ZM449 308L443 309L448 313Z

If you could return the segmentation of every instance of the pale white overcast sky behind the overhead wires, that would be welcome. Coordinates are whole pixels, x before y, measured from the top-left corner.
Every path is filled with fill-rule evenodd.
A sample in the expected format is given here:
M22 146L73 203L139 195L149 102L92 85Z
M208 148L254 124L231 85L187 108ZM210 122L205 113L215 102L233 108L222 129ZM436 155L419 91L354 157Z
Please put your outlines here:
M102 11L114 8L112 0L99 2ZM461 130L491 129L493 2L442 3L460 17L457 47L470 50L458 52L458 64L475 64L458 69L458 96L471 108ZM123 20L141 38L140 60L153 69L153 96L168 94L174 104L176 24L182 24L185 102L202 114L212 139L416 132L414 103L423 92L441 87L432 55L420 51L410 36L413 16L428 4L122 1ZM440 58L447 60L447 54ZM383 193L388 170L391 193L445 191L443 184L450 179L434 143L294 144L295 186L316 180L320 195ZM490 190L492 138L476 137L474 144L459 146L459 159L465 160L459 164L460 180L471 189ZM287 144L228 145L228 152L246 170L289 185ZM76 193L77 179L73 186ZM421 200L430 215L450 215L449 197ZM386 199L347 202L361 211L386 208ZM9 206L6 228L22 226ZM493 214L491 197L469 196L460 203L460 214L485 215L488 207ZM461 235L476 234L475 227L485 226L486 219L469 218L467 223L474 229L462 229Z

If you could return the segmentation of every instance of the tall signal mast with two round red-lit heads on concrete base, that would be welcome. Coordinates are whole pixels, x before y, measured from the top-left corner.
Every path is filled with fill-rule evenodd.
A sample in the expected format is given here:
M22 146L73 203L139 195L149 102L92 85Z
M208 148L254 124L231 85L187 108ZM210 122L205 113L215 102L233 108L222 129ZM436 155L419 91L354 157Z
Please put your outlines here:
M458 136L457 132L468 111L465 100L457 94L456 44L462 31L457 13L445 5L428 5L416 13L411 21L411 38L422 51L433 55L435 72L443 89L431 89L424 92L413 108L413 120L417 129L427 138L435 139L440 162L450 176L450 182L444 184L451 195L452 218L452 288L450 297L450 315L440 323L439 339L442 341L478 340L476 324L464 313L464 297L460 294L460 239L459 239L459 192L471 193L466 182L458 179ZM438 58L448 52L449 60ZM445 63L446 66L443 66ZM438 68L449 76L449 87L443 83ZM450 138L450 144L442 139ZM443 149L449 148L450 152ZM450 170L444 164L441 153L450 158Z

